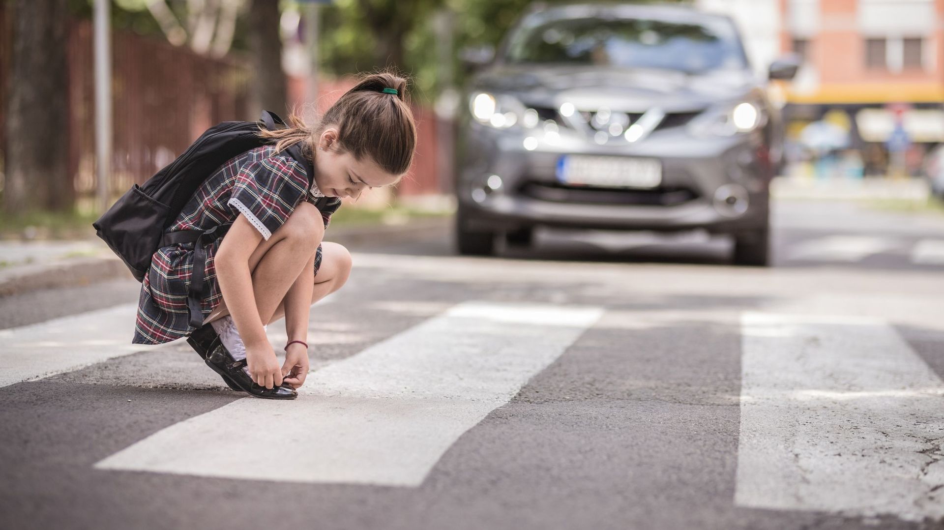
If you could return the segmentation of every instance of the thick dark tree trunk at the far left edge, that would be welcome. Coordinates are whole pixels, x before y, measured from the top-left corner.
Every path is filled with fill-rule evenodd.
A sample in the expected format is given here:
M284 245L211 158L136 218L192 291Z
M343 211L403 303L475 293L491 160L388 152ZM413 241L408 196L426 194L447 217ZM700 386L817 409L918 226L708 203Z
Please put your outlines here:
M67 0L15 0L11 15L4 210L69 210Z

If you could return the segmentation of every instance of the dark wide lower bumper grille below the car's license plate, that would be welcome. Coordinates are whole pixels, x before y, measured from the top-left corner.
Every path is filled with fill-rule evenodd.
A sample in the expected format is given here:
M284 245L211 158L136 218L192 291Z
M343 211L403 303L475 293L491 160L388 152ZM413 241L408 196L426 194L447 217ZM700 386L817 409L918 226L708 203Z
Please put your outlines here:
M538 180L525 181L518 188L518 193L525 197L550 202L650 206L676 206L699 197L694 190L678 186L637 190L627 188L567 186L556 182L543 182Z

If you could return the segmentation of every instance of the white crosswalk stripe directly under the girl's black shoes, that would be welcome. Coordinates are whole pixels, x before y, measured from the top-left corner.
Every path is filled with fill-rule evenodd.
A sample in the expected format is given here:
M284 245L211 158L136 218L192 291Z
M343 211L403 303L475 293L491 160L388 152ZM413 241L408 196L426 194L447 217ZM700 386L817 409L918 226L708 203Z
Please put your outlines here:
M465 302L312 372L295 401L230 402L95 468L416 487L459 436L509 402L602 313Z

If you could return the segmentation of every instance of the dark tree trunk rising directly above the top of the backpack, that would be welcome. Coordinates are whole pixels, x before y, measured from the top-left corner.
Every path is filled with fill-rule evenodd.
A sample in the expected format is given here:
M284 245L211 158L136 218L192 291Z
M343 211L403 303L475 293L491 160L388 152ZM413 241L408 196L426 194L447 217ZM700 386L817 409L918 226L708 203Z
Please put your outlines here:
M287 84L282 71L282 41L278 35L278 2L252 0L249 8L249 31L252 45L253 107L251 119L264 109L284 116L287 109Z

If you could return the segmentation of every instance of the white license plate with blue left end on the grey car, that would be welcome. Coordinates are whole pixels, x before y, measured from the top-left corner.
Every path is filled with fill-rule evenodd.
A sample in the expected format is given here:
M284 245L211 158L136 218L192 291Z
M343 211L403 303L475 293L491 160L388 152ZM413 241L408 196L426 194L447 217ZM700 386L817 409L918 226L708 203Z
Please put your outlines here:
M654 188L662 183L657 159L565 155L557 161L557 180L571 186Z

